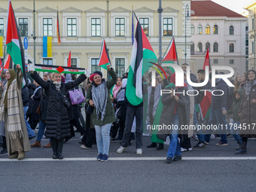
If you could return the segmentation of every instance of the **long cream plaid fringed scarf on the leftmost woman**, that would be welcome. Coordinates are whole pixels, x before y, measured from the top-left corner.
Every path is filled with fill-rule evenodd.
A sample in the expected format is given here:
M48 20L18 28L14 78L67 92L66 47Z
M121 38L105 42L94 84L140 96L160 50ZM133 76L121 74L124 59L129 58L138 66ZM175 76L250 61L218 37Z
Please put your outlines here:
M17 137L23 137L23 131L21 130L21 121L20 121L20 106L19 98L17 94L17 81L11 83L9 89L7 90L7 84L5 84L2 99L0 102L0 120L5 121L5 104L4 98L5 94L8 94L8 124L7 131L10 139L16 139Z

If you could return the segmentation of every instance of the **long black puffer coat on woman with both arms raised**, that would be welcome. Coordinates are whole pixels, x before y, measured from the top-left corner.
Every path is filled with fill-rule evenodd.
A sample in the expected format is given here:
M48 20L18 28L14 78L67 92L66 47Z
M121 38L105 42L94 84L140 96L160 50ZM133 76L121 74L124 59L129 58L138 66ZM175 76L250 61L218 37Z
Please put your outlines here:
M56 90L53 82L42 80L37 72L34 72L31 77L44 88L46 95L49 96L45 134L46 137L56 139L69 137L69 115L66 105L63 103L63 96L66 96L68 90L78 86L78 84L81 84L81 82L86 79L86 75L80 75L75 81L66 84L62 83L59 91Z

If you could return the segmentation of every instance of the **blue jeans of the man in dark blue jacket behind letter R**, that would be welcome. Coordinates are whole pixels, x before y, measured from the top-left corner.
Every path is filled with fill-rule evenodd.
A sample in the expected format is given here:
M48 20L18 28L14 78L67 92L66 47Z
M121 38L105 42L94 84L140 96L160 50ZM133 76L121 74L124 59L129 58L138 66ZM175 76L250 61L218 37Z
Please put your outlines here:
M208 121L208 125L216 125L219 128L219 134L221 136L221 142L227 143L227 130L230 130L230 125L226 121L226 117L222 114L221 108L212 108L211 109L211 116ZM222 127L221 127L222 125ZM227 125L227 127L226 127ZM221 129L223 128L223 129ZM210 142L210 136L213 130L207 130L205 133L205 140L206 142Z

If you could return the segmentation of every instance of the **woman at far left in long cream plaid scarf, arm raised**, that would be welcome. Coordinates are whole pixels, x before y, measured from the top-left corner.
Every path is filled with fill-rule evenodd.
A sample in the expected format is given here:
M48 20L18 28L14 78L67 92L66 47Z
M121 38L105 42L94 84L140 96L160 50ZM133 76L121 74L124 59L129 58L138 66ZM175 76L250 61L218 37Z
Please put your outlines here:
M8 80L5 87L0 82L0 120L5 122L5 135L9 159L22 160L25 152L30 151L29 136L23 111L21 89L23 87L23 73L20 65L16 66L17 74L8 69L5 78Z

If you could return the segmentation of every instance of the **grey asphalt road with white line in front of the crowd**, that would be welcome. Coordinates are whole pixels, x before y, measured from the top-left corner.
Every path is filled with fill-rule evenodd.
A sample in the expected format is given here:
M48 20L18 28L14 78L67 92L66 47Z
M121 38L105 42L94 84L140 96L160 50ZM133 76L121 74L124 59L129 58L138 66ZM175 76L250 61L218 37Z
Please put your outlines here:
M222 147L215 146L218 139L212 139L206 148L184 152L183 160L171 164L165 163L168 145L163 151L143 148L143 154L138 156L135 141L123 154L117 154L118 141L111 142L108 162L99 162L96 145L92 149L80 148L76 134L75 139L64 145L64 160L52 160L51 148L32 148L26 159L20 161L0 157L0 191L255 190L256 140L248 140L248 154L237 156L232 138L228 139L228 146ZM44 139L42 145L47 142ZM143 143L149 145L150 138L144 137ZM75 159L79 157L84 159ZM204 157L212 158L204 160ZM231 157L246 158L232 160Z

